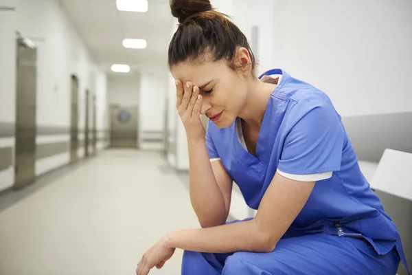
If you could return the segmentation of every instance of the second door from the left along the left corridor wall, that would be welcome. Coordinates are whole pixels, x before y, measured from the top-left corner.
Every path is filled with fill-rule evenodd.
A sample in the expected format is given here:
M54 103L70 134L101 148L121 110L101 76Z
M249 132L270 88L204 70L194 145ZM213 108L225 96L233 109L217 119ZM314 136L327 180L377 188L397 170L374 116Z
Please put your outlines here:
M76 162L78 159L78 96L79 82L75 75L71 76L71 128L70 128L70 162Z

